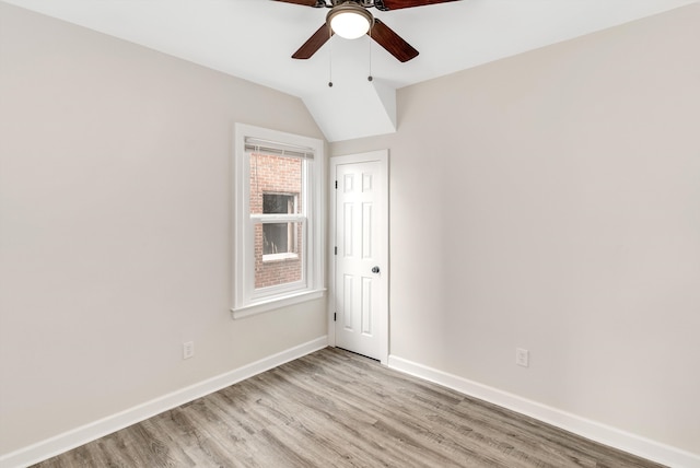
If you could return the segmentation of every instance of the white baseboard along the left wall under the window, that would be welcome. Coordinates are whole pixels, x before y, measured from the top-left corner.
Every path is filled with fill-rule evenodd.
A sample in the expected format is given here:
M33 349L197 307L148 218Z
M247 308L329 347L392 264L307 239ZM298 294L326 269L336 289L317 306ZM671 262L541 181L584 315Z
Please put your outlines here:
M160 414L180 405L218 391L237 382L260 374L285 362L318 351L328 346L328 337L290 348L254 363L244 365L217 377L209 378L189 387L173 391L160 398L147 401L119 413L73 429L34 445L21 448L0 457L0 468L26 467L55 455L79 447L88 442L112 434L137 422Z

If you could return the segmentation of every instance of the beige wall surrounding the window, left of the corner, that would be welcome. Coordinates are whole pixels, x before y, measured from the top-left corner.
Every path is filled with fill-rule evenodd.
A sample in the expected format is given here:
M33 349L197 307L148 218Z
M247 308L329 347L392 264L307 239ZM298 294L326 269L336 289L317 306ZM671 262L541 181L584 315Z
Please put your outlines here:
M326 334L324 301L230 316L236 121L323 137L295 97L0 2L0 454Z

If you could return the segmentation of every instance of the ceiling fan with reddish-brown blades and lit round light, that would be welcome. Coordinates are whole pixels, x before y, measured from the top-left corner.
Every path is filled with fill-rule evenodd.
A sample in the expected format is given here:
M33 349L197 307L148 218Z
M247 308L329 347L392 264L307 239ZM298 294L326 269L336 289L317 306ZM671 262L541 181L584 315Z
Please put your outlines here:
M294 3L313 8L329 8L326 23L318 28L296 50L292 58L311 58L334 34L348 39L354 39L369 34L377 44L384 47L397 60L405 62L416 56L416 50L410 44L389 28L384 22L377 20L368 10L376 8L380 11L392 11L401 8L423 7L435 3L446 3L455 0L275 0L285 3Z

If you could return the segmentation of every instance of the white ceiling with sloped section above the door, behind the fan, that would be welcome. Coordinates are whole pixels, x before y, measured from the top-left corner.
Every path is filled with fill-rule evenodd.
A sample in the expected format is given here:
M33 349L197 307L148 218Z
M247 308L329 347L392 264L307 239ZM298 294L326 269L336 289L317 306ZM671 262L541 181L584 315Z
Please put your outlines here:
M334 36L311 59L293 60L328 10L272 0L3 1L296 95L326 139L340 141L394 132L399 87L698 0L459 0L372 9L420 51L406 63L366 36Z

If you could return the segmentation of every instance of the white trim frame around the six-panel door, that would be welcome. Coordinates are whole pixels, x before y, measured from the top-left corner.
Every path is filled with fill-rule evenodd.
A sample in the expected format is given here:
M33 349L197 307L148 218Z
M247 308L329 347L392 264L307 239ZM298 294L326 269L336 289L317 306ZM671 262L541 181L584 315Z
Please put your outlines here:
M381 268L381 291L383 292L383 297L381 299L382 307L380 308L378 314L378 330L380 330L380 362L384 365L388 365L389 359L389 151L388 150L377 150L370 151L366 153L358 153L358 154L348 154L343 156L332 156L330 157L330 167L328 171L329 176L329 200L328 203L330 206L330 217L329 217L329 231L330 231L330 242L328 243L329 251L328 258L330 261L328 262L328 282L329 282L329 291L328 294L328 344L331 347L336 346L336 324L335 324L335 313L336 308L336 172L337 166L341 164L352 164L352 163L369 163L369 162L378 162L381 165L381 177L382 177L382 186L384 187L383 201L381 207L381 212L378 213L378 223L382 225L382 230L386 233L386 238L384 239L382 254L380 258L380 268Z

